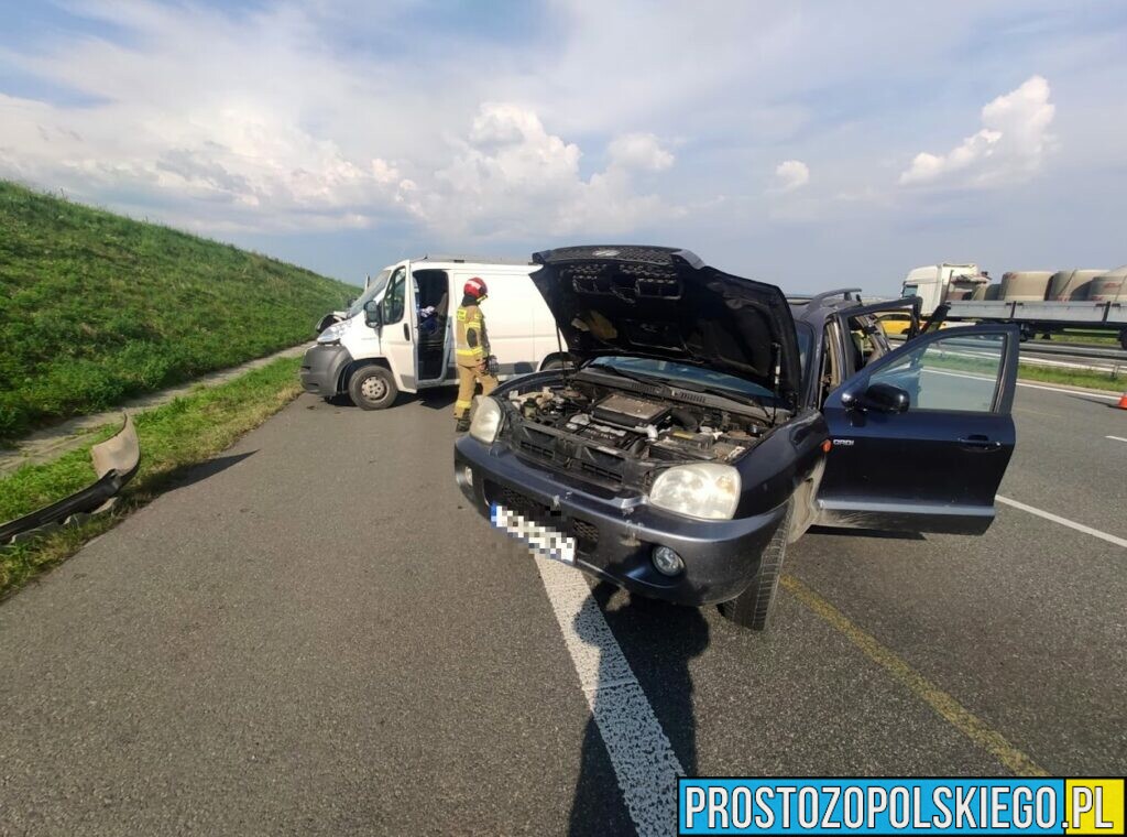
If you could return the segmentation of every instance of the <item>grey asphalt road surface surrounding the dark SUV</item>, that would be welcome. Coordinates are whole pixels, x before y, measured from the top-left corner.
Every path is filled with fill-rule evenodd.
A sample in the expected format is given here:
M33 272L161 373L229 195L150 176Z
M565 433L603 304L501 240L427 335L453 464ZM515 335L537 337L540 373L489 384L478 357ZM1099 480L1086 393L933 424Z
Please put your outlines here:
M0 834L630 832L536 564L454 487L451 412L304 396L0 605ZM1014 415L1002 495L1127 538L1127 412L1023 387ZM807 536L767 635L594 596L689 773L997 775L1000 737L1122 775L1125 566L1001 505L980 538Z

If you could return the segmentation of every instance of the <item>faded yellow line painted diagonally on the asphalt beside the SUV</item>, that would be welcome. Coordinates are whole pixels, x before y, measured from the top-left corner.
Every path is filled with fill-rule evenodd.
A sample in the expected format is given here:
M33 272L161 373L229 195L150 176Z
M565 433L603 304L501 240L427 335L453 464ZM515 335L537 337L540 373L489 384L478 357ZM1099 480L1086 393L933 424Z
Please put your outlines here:
M1014 747L1002 733L960 704L955 697L913 669L894 651L882 645L872 634L858 627L845 614L822 598L793 575L783 575L783 588L815 615L844 635L867 658L880 666L916 697L934 710L940 717L987 750L1015 776L1048 776L1049 774L1029 756Z

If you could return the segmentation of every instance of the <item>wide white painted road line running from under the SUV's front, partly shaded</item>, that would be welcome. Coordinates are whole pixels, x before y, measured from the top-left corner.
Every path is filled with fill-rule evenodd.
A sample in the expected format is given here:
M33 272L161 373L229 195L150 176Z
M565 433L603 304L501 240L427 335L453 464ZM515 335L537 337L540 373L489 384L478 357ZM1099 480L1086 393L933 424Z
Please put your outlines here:
M577 570L541 557L536 566L635 828L640 837L676 830L685 772L603 611Z

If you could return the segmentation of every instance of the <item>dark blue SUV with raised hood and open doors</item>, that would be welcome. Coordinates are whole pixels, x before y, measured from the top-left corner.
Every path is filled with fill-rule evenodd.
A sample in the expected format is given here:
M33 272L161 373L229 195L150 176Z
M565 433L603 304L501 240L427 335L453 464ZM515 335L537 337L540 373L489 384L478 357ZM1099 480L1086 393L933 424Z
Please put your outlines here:
M478 399L454 476L497 528L632 592L770 619L810 526L982 534L1014 446L1018 333L894 349L854 290L804 299L668 247L539 253L566 351Z

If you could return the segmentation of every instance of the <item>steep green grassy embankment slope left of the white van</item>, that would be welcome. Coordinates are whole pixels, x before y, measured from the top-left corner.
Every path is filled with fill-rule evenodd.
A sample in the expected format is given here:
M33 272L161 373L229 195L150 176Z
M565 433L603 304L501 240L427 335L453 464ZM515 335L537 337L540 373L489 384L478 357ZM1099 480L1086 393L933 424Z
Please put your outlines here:
M0 180L0 443L295 345L356 290Z

